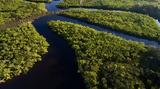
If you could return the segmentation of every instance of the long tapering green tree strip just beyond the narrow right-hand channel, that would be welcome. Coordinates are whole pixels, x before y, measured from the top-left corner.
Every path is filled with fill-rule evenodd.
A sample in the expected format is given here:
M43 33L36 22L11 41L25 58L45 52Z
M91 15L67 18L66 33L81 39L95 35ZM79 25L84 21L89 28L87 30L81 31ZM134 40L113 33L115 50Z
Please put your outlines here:
M156 20L146 15L124 11L86 9L71 9L61 11L58 14L160 41L160 27Z

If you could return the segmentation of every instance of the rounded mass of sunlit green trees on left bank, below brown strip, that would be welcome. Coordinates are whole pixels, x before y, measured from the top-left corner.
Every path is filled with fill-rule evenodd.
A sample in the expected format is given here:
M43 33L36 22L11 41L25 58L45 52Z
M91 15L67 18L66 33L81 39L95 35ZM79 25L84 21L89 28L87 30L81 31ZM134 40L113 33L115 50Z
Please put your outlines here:
M1 30L0 83L29 71L47 48L48 43L31 23Z

